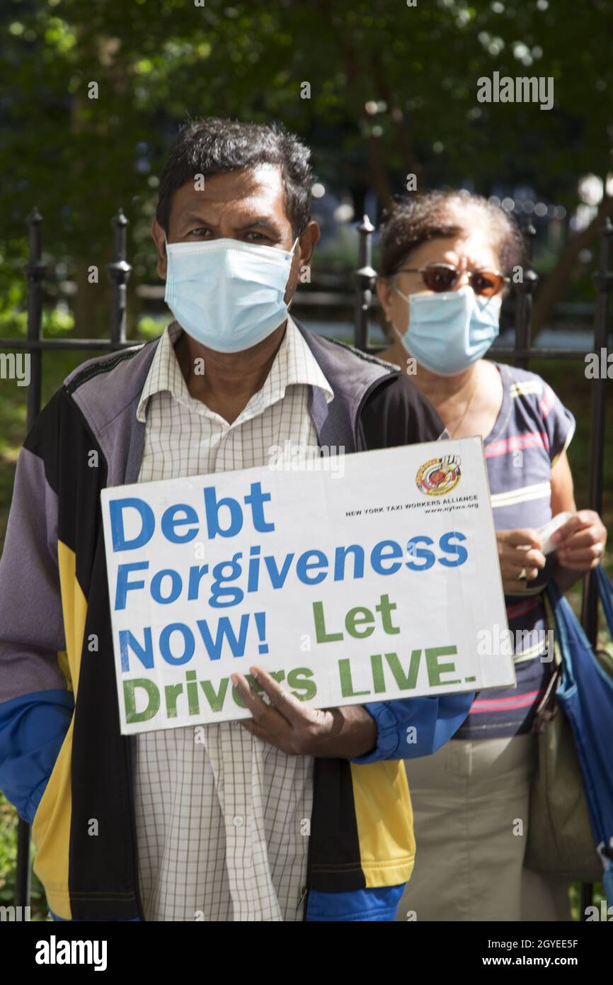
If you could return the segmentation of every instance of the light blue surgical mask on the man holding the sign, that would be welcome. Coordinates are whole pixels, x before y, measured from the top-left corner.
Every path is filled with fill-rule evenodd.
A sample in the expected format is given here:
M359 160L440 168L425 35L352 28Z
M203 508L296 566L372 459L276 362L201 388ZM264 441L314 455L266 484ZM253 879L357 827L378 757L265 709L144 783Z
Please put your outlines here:
M239 239L169 243L164 300L197 342L241 353L268 338L287 317L283 300L293 251Z

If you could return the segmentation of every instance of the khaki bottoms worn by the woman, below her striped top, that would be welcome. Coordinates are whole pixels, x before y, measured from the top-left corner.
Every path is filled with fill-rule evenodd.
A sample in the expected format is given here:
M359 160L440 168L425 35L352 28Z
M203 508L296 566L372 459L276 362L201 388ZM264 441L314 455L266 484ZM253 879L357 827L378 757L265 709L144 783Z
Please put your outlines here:
M568 886L523 869L536 737L452 739L406 759L417 845L397 920L571 920Z

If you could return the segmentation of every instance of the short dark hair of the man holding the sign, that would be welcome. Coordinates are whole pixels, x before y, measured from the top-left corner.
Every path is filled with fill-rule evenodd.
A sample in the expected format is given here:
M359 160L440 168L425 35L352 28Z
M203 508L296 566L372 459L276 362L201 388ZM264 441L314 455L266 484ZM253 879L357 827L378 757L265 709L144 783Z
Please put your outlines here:
M243 167L276 164L285 188L285 212L294 236L311 219L311 152L280 124L208 119L187 123L168 152L159 176L155 219L168 233L172 196L195 174L205 177Z

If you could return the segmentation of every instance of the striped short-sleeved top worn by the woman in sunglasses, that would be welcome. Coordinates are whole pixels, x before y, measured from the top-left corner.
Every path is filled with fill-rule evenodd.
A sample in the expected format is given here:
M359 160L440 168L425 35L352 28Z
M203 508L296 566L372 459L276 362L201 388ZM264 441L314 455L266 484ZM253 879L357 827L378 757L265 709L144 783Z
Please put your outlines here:
M502 375L503 402L483 442L494 526L538 528L551 519L551 468L573 437L575 418L536 373L494 364ZM546 566L521 596L505 596L517 688L477 691L454 739L494 739L530 731L553 668L552 661L541 659L548 655L541 593L554 558L555 554L547 556Z

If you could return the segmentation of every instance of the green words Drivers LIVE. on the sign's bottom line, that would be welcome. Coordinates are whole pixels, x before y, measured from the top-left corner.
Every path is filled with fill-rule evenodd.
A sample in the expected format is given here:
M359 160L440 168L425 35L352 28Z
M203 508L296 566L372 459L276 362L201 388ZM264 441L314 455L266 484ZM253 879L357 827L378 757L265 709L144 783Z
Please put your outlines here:
M361 683L354 683L351 662L347 659L337 661L339 699L366 697L369 694L382 694L390 689L394 681L398 688L398 696L404 691L417 687L417 679L422 665L425 665L430 688L439 688L453 684L461 684L459 677L449 680L448 675L458 673L456 664L450 657L458 655L456 646L433 646L424 650L412 650L407 661L402 662L397 653L374 653L370 657L368 669L369 680L364 681L365 667L360 668ZM366 665L368 667L368 664ZM301 701L310 701L317 695L315 672L310 667L294 667L285 671L269 671L272 678L279 684L286 681L290 693ZM445 675L445 679L443 677ZM250 674L244 675L249 685L255 691L262 691L261 686ZM330 677L327 673L327 683ZM466 681L473 681L473 678ZM198 681L196 671L186 671L185 682L166 685L160 689L149 678L133 678L123 682L126 722L135 725L147 722L160 710L162 697L166 718L185 718L203 714L203 707L213 712L225 711L233 702L239 708L245 703L240 693L230 684L228 677L217 682Z

